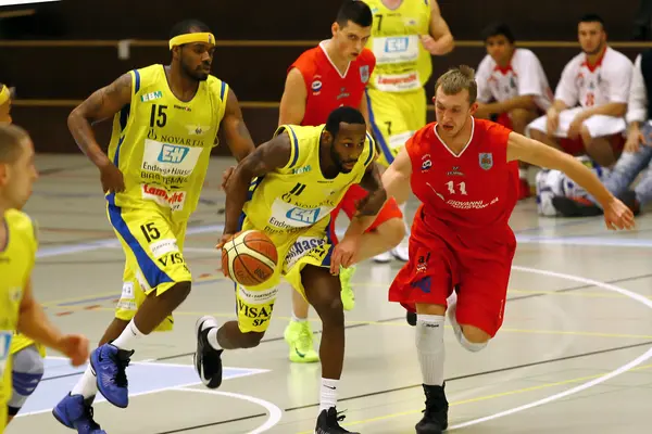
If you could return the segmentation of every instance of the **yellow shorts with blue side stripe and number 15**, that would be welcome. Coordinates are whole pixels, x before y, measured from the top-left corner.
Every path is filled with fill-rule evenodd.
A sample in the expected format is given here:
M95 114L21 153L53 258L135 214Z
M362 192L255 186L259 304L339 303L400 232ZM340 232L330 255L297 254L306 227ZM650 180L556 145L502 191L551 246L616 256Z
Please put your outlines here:
M106 213L126 256L115 318L129 321L151 292L161 295L179 282L192 281L183 254L187 224L174 222L151 209L126 209L111 204ZM171 315L155 330L168 331L173 326Z

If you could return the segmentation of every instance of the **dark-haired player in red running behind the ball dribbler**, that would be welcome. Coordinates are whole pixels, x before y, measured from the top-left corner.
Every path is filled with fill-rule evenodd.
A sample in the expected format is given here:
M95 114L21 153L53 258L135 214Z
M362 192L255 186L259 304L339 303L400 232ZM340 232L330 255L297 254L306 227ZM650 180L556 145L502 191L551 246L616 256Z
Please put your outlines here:
M372 34L373 15L362 1L347 1L333 23L333 37L302 53L288 68L285 91L280 100L279 125L323 125L330 112L346 105L359 108L368 123L364 90L376 66L374 53L364 48ZM356 203L367 192L351 186L340 205L331 213L331 239L335 220L343 209L349 219L356 212ZM396 201L390 200L365 232L359 260L371 258L397 246L405 235L403 214ZM355 297L351 288L354 267L342 269L342 304L351 310ZM313 333L308 321L309 304L298 291L292 291L292 320L284 336L290 347L293 362L318 361L313 347Z

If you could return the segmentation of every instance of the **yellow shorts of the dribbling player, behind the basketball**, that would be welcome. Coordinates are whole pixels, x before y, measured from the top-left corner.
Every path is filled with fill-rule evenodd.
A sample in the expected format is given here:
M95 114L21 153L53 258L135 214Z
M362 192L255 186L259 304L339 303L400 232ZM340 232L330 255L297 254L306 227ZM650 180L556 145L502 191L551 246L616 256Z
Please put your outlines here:
M318 224L316 227L309 227L292 233L267 233L278 252L278 263L274 275L258 286L236 285L238 328L242 333L267 330L281 277L305 298L305 289L301 282L303 267L306 265L330 267L334 244L327 228L328 226L325 228L323 224ZM256 228L248 218L244 218L242 230Z

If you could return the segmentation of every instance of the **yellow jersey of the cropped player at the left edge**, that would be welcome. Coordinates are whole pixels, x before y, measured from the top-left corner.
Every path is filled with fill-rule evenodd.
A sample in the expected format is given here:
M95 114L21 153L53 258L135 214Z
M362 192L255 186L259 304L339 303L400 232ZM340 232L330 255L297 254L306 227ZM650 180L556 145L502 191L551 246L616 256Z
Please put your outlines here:
M10 348L18 326L18 309L34 263L38 242L35 225L16 209L4 213L7 243L0 246L0 432L7 424L7 401L11 397Z

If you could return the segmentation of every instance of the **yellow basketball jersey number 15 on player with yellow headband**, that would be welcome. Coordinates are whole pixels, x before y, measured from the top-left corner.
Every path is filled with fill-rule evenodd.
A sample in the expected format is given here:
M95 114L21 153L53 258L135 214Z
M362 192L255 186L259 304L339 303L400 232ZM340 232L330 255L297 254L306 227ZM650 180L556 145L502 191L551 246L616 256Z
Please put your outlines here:
M163 65L129 74L131 102L115 115L109 145L125 192L109 194L109 203L187 220L199 202L228 85L209 76L195 98L183 102L170 90Z

